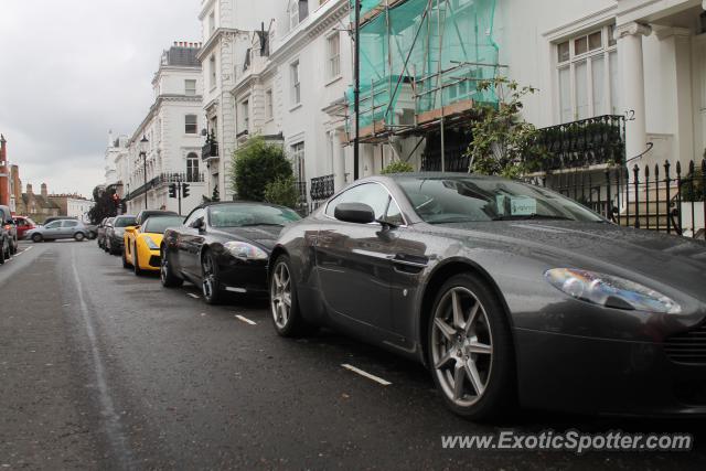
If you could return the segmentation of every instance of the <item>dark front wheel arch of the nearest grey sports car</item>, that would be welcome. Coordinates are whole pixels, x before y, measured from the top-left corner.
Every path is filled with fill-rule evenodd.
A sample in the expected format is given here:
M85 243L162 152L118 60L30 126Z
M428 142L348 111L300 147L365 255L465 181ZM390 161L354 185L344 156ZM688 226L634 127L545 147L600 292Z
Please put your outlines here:
M429 279L427 283L424 287L424 292L421 296L421 304L420 304L421 307L419 309L419 314L417 317L417 320L418 320L417 338L419 339L419 342L420 342L419 345L421 347L421 352L420 352L421 360L426 366L428 366L427 354L429 349L427 329L429 325L429 317L432 314L431 310L434 308L434 301L439 290L446 282L446 280L448 280L449 278L456 275L461 275L461 274L477 275L481 278L483 282L485 282L490 287L491 291L493 292L493 295L495 295L495 297L500 301L500 304L503 307L503 315L505 315L505 319L507 320L507 324L510 325L510 332L513 339L513 345L515 344L514 329L513 329L514 322L513 322L512 315L510 315L510 309L507 307L507 302L505 301L505 297L502 295L500 287L494 281L493 277L486 270L484 270L481 266L479 266L478 264L474 264L469 259L454 258L454 259L447 260L441 265L435 267L431 275L429 275Z

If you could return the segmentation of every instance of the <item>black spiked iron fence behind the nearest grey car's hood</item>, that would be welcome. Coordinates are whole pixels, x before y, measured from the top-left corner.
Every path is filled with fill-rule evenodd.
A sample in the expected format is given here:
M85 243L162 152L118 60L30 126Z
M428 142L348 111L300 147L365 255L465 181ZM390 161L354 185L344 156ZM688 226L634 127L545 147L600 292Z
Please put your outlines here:
M623 226L704 238L706 159L548 173L531 182L557 191Z

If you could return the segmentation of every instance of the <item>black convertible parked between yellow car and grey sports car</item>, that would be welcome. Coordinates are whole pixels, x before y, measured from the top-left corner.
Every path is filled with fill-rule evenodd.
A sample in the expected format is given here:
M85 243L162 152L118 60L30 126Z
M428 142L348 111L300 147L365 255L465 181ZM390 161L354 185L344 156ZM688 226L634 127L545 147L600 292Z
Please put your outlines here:
M300 217L266 203L208 203L178 228L164 232L160 278L164 287L184 280L217 303L224 291L267 293L267 259L281 228Z

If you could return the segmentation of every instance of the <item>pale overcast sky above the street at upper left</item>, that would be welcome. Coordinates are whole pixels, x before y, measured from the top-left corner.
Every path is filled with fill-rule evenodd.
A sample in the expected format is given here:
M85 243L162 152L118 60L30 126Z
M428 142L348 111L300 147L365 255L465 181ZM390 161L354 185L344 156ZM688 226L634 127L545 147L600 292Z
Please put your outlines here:
M130 135L174 41L201 41L201 0L0 0L0 132L22 185L90 196L108 130Z

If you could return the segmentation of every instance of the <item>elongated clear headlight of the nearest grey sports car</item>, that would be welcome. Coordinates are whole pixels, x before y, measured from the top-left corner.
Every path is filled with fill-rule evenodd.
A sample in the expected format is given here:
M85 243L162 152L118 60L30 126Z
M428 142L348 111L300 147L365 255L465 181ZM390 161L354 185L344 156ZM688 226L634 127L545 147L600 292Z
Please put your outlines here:
M593 304L665 314L682 312L678 303L661 292L612 275L555 268L547 270L544 277L571 298Z

